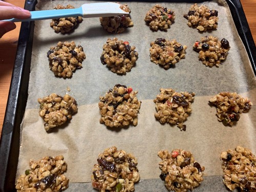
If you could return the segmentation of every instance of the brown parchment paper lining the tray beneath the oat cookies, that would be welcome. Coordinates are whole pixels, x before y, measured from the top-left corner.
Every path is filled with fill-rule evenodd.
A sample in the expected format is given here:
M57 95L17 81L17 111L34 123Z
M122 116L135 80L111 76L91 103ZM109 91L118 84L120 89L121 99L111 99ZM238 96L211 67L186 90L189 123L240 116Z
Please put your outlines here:
M90 2L93 1L45 0L38 1L37 9L53 9L57 4L72 4L78 8L83 3ZM210 9L219 11L218 29L205 33L199 33L187 26L183 14L188 12L191 4L158 3L176 13L175 23L167 32L153 32L144 22L146 12L157 3L126 4L132 10L134 27L126 29L122 34L110 34L103 30L99 18L84 19L73 33L66 35L55 33L50 28L50 20L35 22L29 96L21 125L17 176L29 167L30 159L38 160L44 156L62 154L68 163L66 176L71 182L68 191L77 191L78 188L88 191L83 187L90 186L90 183L76 183L91 182L91 172L93 165L97 163L98 154L103 152L104 148L115 145L138 158L138 169L143 183L139 186L150 186L148 183L163 185L159 179L160 158L157 153L159 150L172 151L174 148L183 148L193 153L196 161L205 166L206 176L216 176L208 177L208 182L215 184L218 179L219 183L222 182L219 159L222 151L241 145L250 148L255 154L255 107L252 107L249 113L242 114L236 125L227 127L217 120L216 108L208 104L210 97L222 91L237 92L256 103L255 76L226 2L204 3ZM229 41L231 49L219 68L206 67L198 60L198 53L193 51L194 42L205 35L226 38ZM129 41L139 53L136 66L123 76L112 73L100 62L102 46L106 39L113 37ZM164 70L150 61L150 42L158 37L177 39L182 45L187 45L185 59L176 63L175 68ZM51 46L57 45L58 41L72 40L84 48L87 58L82 63L83 68L77 70L71 79L57 78L49 69L47 51ZM135 127L109 129L99 123L99 96L103 96L117 83L139 91L137 97L142 104L138 125ZM71 89L70 92L67 87ZM159 94L160 88L196 93L192 104L193 112L185 122L185 132L181 132L177 126L162 125L156 121L153 99ZM72 95L78 102L78 113L69 124L47 133L38 114L37 98L54 92L60 95L68 92ZM222 187L221 190L225 190L225 187L219 186ZM198 191L203 191L204 187L209 186L200 187ZM89 188L92 190L92 187ZM139 187L137 190L156 191L154 187L148 190Z

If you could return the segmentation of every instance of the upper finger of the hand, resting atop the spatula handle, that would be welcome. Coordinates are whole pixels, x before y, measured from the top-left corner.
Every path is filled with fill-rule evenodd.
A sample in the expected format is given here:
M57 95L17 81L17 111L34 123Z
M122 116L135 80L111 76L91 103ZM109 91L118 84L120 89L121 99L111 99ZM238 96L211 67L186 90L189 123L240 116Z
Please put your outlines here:
M16 6L1 6L0 5L0 20L9 18L28 18L31 16L30 11Z

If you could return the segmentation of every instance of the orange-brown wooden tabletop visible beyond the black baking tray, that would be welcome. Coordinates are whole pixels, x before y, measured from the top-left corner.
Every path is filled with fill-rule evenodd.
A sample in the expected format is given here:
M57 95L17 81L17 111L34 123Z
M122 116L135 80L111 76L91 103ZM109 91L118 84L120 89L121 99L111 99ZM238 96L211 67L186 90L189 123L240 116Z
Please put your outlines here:
M5 2L24 7L25 0L6 0ZM251 34L256 44L256 0L241 0ZM16 56L20 23L17 28L0 39L0 135L5 116L6 103L10 88L12 69Z

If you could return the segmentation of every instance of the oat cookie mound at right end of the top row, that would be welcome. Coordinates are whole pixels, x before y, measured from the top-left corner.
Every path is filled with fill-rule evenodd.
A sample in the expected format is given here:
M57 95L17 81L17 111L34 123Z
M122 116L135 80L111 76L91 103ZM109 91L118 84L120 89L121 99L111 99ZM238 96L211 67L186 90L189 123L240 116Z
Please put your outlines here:
M210 10L205 5L191 5L188 13L184 14L184 17L188 19L187 25L189 27L195 27L202 32L209 29L217 29L218 27L218 11Z

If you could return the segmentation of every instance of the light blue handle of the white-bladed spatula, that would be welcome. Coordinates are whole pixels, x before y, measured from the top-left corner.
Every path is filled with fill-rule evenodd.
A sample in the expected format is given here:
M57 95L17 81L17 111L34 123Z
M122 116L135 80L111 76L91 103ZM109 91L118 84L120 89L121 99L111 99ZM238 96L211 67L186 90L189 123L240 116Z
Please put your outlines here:
M8 22L30 22L31 20L42 20L42 19L52 19L52 18L61 18L61 17L75 17L83 16L82 8L76 9L53 9L53 10L44 10L44 11L30 11L31 17L27 19L6 19L3 21Z

